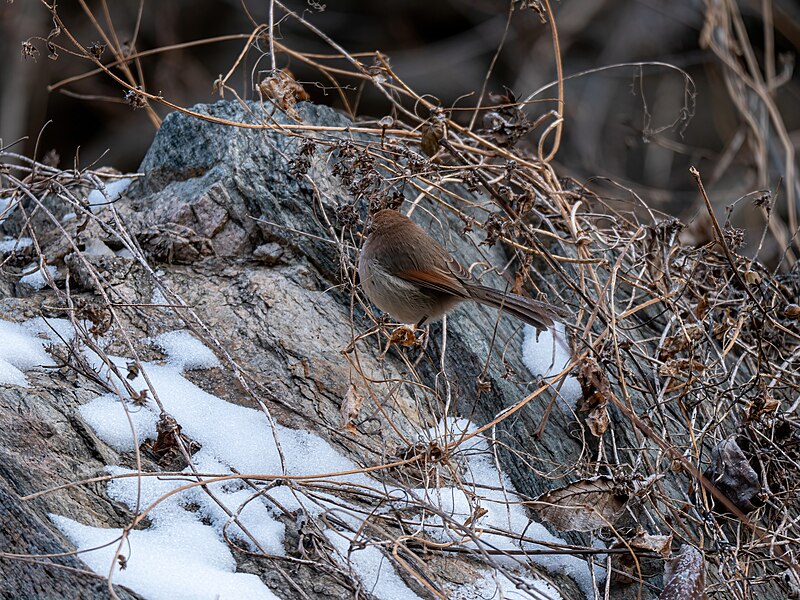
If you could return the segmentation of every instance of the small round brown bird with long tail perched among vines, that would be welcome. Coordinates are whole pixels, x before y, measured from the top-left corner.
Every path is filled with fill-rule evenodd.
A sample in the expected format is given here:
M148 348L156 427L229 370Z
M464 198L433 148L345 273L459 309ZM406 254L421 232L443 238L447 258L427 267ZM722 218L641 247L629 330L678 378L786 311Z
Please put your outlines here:
M480 285L419 225L394 210L384 209L372 217L358 275L378 308L418 327L464 300L501 309L539 330L563 316L563 311L545 302Z

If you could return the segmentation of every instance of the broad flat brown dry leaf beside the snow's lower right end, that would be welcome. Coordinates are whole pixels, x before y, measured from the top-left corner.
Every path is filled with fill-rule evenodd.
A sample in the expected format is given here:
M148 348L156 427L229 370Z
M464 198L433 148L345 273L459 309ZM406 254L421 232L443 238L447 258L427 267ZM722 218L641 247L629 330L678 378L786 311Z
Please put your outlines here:
M625 510L629 494L606 476L581 479L525 502L560 531L594 531L612 525Z

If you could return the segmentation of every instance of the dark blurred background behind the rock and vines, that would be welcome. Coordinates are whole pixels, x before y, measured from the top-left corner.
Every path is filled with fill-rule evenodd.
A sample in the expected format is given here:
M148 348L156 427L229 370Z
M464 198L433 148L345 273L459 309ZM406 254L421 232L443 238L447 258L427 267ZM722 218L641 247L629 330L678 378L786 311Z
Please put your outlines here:
M218 99L214 81L236 62L253 22L268 22L270 6L264 0L86 4L106 34L113 29L121 46L133 41L139 52L209 40L144 57L141 74L134 68L148 91L184 107ZM337 0L323 6L289 0L287 6L351 53L380 50L410 87L443 107L475 106L482 89L484 103L490 92L517 100L533 95L524 109L531 121L556 107L556 89L545 88L556 79L553 38L539 2ZM698 206L690 165L701 170L723 205L756 189L796 185L790 171L800 141L797 0L562 0L552 9L566 78L564 137L555 161L560 175L596 185L608 178L615 182L606 187L609 194L630 190L683 217ZM81 3L60 3L58 13L82 46L105 43ZM279 9L276 18L282 44L303 53L334 53ZM40 138L37 158L54 151L49 160L62 168L72 167L79 152L79 166L98 161L135 171L157 121L130 106L125 90L102 73L48 91L93 70L91 62L70 54L74 47L64 32L52 30L42 2L16 0L0 8L3 144L27 136L12 150L32 156ZM48 56L49 35L57 59ZM254 97L253 81L269 69L267 51L260 42L229 80L242 97ZM318 71L287 54L276 58L314 101L342 108ZM108 49L102 60L113 60ZM357 80L341 83L349 84L359 116L387 114L388 103L374 90ZM161 118L169 112L155 103L152 108ZM472 113L454 116L468 122ZM535 146L540 135L535 131L522 143Z

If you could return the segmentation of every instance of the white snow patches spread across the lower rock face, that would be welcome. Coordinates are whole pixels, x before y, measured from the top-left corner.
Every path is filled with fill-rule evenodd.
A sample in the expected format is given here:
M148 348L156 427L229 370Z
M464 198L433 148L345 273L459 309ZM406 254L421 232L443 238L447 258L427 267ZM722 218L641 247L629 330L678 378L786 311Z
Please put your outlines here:
M73 335L70 323L61 319L33 319L21 325L0 321L0 338L5 342L0 344L0 382L27 385L23 371L53 364L45 343L67 341ZM488 442L479 436L464 441L454 451L453 460L463 472L457 485L430 489L390 487L356 472L358 465L322 438L271 423L263 412L225 402L188 381L183 376L184 370L218 363L187 332L170 332L152 343L167 354L167 359L163 364L144 363L142 372L152 382L164 410L181 425L184 434L201 445L192 457L192 466L198 473L229 478L208 483L206 492L200 486L190 485L197 482L191 470L182 477L158 478L109 466L108 472L115 476L107 486L109 497L125 504L133 513L148 511L149 526L131 531L121 546L120 529L91 527L50 515L92 570L107 576L113 567L115 583L145 598L275 598L258 577L236 572L236 561L226 537L255 552L285 555L285 525L276 506L311 518L323 512L335 515L339 525L325 531L335 562L349 570L363 589L376 598L418 597L390 560L390 550L387 552L385 544L375 545L371 539L369 509L327 492L306 493L302 486L290 489L278 485L258 494L234 471L260 476L261 480L264 476L273 479L281 475L319 474L320 479L334 481L342 490L348 487L371 490L390 499L378 510L400 510L405 514L418 511L412 520L418 523L420 534L434 541L517 552L540 547L537 540L561 542L527 518L514 488L495 465ZM119 376L99 356L88 350L84 352L101 377L117 389L125 389ZM110 358L118 373L126 377L129 361ZM129 380L134 390L147 387L142 372ZM141 406L121 402L116 394L104 394L85 404L80 412L98 436L119 451L132 451L144 440L155 439L160 415L150 395ZM426 432L425 438L437 440L443 447L472 431L474 426L468 421L451 420L446 427ZM340 475L329 475L332 473ZM476 508L485 513L476 513ZM231 515L236 515L236 522ZM471 540L458 527L469 518L474 519L474 530L480 532ZM560 598L547 582L526 572L528 557L521 561L503 556L494 558L497 568L487 565L477 581L453 585L448 593L465 600ZM529 558L568 574L589 594L587 584L591 584L584 561L558 555Z

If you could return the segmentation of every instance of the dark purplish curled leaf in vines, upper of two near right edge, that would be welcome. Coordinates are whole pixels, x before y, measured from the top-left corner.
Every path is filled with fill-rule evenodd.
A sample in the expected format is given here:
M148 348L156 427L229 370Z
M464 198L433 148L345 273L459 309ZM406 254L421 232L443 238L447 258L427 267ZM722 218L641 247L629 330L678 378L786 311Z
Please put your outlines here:
M752 512L757 508L761 485L758 474L734 438L722 440L711 450L711 466L703 475L725 494L737 508Z

